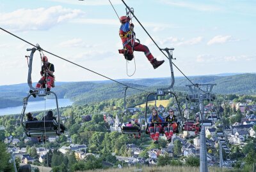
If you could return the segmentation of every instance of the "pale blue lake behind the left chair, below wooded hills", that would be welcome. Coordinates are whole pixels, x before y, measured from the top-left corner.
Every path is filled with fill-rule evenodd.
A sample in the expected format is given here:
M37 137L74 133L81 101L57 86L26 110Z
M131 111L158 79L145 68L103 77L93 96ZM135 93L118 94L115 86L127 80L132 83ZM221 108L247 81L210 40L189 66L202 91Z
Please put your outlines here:
M73 101L70 99L58 99L59 108L72 105ZM0 116L2 115L12 115L20 114L23 106L9 107L9 108L0 108ZM56 99L46 99L46 101L28 101L26 112L28 111L43 111L49 109L55 109Z

